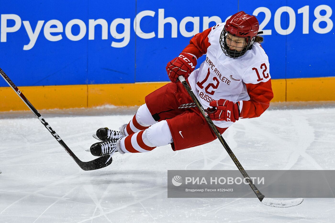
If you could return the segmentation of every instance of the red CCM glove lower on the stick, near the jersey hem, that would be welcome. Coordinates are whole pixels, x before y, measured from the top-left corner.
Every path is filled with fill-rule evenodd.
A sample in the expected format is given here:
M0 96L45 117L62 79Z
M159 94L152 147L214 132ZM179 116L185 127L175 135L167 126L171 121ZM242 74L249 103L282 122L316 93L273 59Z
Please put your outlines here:
M207 109L207 113L212 120L227 122L239 120L240 110L237 103L220 99L218 101L212 101L209 103L209 106L213 107Z

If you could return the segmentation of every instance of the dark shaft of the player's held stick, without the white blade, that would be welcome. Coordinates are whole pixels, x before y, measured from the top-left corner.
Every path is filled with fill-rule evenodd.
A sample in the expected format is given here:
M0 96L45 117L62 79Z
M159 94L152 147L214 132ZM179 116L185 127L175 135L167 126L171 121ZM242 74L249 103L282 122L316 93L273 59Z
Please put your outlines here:
M241 174L243 175L243 177L247 179L247 181L248 181L249 186L251 187L251 189L254 191L254 193L256 194L256 196L258 197L258 199L260 201L262 201L265 196L252 183L252 181L250 180L250 177L248 176L247 172L244 170L243 166L241 165L241 163L239 162L239 160L236 158L235 154L231 151L230 147L228 146L228 144L226 143L226 141L224 140L224 138L222 137L222 135L220 134L220 132L217 130L217 128L214 125L213 121L209 118L207 112L205 112L205 110L202 107L200 101L198 100L198 98L193 93L192 89L190 88L190 86L186 82L185 78L183 76L179 76L178 79L184 85L185 89L187 90L187 92L189 93L189 95L191 96L191 98L193 99L194 103L197 105L197 107L201 111L202 115L206 119L208 125L214 131L216 137L219 139L219 141L223 145L224 149L227 151L227 153L229 154L230 158L235 163L235 165L237 166L237 168L239 169L239 171L241 172Z

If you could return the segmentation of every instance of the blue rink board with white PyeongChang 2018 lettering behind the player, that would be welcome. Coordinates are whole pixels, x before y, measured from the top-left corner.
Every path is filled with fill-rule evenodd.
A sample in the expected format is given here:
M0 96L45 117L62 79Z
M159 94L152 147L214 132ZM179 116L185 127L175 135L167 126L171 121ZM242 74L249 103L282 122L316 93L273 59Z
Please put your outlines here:
M240 10L257 14L261 27L268 32L263 35L262 46L269 56L272 79L335 76L333 0L278 0L253 4L232 0L229 6L214 0L205 4L203 1L192 1L192 4L182 1L178 5L166 0L125 0L122 3L114 0L20 0L20 4L2 0L0 67L18 86L168 81L166 63L188 44L191 36L187 33L201 32L206 25L215 25L215 21L203 24L206 17L216 16L223 22ZM134 21L136 15L142 18ZM198 18L195 23L184 25L186 32L181 31L184 27L181 21L188 16ZM163 26L162 36L158 33L159 19L167 17L176 21L177 37L172 37L175 26L170 23ZM78 22L66 29L73 19L84 24L86 31L79 28ZM90 28L89 21L98 19L103 25ZM62 30L50 33L55 30L52 28L57 28L55 24L51 29L45 27L50 20L59 20ZM31 26L30 31L38 33L38 21L43 21L43 25L36 43L24 49L30 42L27 30ZM14 28L11 30L11 27ZM62 39L50 41L46 36L48 32L52 36L61 34ZM79 40L68 37L69 33L77 36L81 32L83 36ZM89 39L92 36L94 39ZM198 66L203 60L204 57L198 60ZM0 87L6 86L0 81Z

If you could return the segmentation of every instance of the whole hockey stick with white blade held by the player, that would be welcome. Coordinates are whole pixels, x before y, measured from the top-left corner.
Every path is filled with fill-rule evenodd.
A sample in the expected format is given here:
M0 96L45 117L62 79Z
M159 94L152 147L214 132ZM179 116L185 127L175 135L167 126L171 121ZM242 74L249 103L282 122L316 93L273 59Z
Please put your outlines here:
M196 104L196 106L199 108L199 110L201 111L202 115L206 119L208 125L212 128L212 130L214 131L215 135L217 136L217 138L219 139L219 141L221 142L221 144L223 145L223 147L225 148L225 150L229 154L230 158L235 163L235 165L237 166L237 168L239 169L239 171L241 172L241 174L243 175L243 177L247 180L247 182L249 183L249 186L254 191L254 193L258 197L259 201L262 202L262 204L265 204L265 205L268 205L268 206L272 206L272 207L283 207L283 208L286 208L286 207L292 207L292 206L299 205L301 202L303 202L302 198L297 198L297 199L293 199L293 200L275 200L275 199L271 199L271 198L264 198L265 196L252 183L252 181L250 180L250 177L248 176L247 172L244 170L244 168L241 165L241 163L239 162L239 160L236 158L236 156L234 155L234 153L231 151L230 147L228 146L228 144L226 143L226 141L223 139L223 137L220 134L220 132L217 130L217 128L214 125L213 121L209 118L209 115L207 114L207 112L205 112L204 108L202 107L202 105L199 102L198 98L194 95L192 89L190 88L190 86L186 82L185 78L183 76L179 76L178 79L182 82L182 84L184 85L185 89L190 94L191 98L193 99L194 103Z

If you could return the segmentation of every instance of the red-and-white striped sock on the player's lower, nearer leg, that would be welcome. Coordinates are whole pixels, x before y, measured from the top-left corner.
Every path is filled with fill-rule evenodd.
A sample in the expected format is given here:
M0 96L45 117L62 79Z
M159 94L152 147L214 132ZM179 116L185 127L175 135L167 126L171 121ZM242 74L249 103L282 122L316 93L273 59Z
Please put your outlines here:
M126 153L149 152L156 147L150 147L143 142L144 130L135 132L121 139L120 147Z

